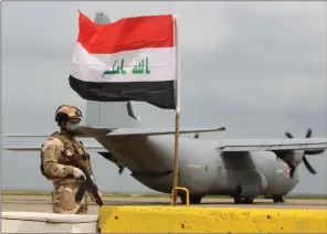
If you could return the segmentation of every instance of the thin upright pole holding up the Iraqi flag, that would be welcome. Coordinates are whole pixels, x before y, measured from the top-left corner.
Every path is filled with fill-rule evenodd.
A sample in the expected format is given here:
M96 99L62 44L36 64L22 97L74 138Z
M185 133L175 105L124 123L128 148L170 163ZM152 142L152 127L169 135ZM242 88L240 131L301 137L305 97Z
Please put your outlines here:
M177 190L178 187L178 169L179 169L179 114L180 114L180 55L179 55L179 34L178 34L178 22L177 18L179 15L173 15L173 26L175 26L175 44L176 44L176 116L175 116L175 160L173 160L173 192L172 192L172 205L177 201Z

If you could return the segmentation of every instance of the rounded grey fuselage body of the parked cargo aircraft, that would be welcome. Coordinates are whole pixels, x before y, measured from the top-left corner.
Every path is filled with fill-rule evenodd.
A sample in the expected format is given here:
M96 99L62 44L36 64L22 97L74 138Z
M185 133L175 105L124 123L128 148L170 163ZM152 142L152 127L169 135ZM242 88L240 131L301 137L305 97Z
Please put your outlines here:
M170 193L173 136L124 136L106 140L106 148L131 176L148 188ZM179 185L191 194L284 195L298 183L288 179L287 164L271 151L221 152L218 140L180 137Z

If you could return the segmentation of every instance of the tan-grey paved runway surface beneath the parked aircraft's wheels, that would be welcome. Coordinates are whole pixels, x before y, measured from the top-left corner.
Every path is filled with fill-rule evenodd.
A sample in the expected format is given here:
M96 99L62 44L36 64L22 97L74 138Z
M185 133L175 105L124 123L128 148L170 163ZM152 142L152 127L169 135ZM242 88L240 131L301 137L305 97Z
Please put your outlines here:
M169 198L103 198L105 205L169 205ZM178 204L182 205L182 204ZM193 204L191 204L193 206ZM183 205L184 206L184 205ZM201 204L194 206L203 208L247 208L247 209L314 209L327 210L327 200L294 200L286 199L285 203L274 203L267 199L256 199L253 204L234 204L232 199L203 199ZM52 213L50 195L2 195L2 211L27 211ZM97 214L98 206L88 201L88 214Z

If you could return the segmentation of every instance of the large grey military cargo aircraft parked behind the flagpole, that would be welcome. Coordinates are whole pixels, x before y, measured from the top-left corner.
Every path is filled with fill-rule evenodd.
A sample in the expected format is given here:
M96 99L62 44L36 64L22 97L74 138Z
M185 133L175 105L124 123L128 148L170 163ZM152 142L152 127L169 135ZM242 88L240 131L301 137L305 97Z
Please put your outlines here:
M146 187L170 193L175 129L135 128L140 118L135 117L130 103L127 103L129 116L122 103L87 103L86 124L78 137L94 138L99 145L86 147L98 150L99 155L116 163L119 173L126 167L131 171L130 176ZM127 128L89 125L118 126L119 121ZM286 132L285 139L209 140L199 137L199 132L222 130L225 130L223 126L180 129L178 183L189 189L191 204L199 204L203 196L210 194L230 195L235 203L243 204L253 203L259 195L268 195L274 202L285 202L285 195L299 182L298 164L304 162L315 174L306 156L321 153L327 148L327 138L310 138L312 130L308 130L306 138L293 138L289 132ZM184 134L196 136L190 138ZM4 135L10 136L49 135ZM40 150L40 146L4 149ZM186 195L178 195L186 203Z

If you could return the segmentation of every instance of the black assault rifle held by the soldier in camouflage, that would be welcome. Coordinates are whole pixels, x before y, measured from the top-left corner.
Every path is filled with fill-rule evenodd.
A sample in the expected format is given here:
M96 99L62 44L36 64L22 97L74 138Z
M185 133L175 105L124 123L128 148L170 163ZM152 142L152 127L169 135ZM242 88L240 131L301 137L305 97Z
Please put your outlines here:
M97 185L95 184L95 182L92 180L91 176L88 174L87 170L84 168L84 166L82 166L81 163L78 163L78 168L84 172L86 180L83 179L83 181L81 182L78 190L75 194L75 202L81 202L83 199L84 193L86 192L86 190L93 195L93 198L95 199L96 204L98 204L99 206L103 205L103 201L102 198L98 194L98 189Z

